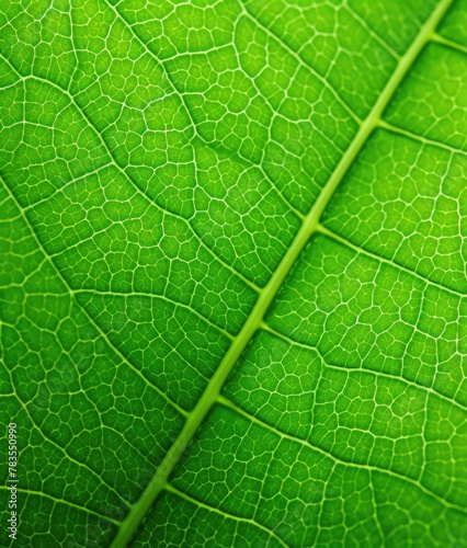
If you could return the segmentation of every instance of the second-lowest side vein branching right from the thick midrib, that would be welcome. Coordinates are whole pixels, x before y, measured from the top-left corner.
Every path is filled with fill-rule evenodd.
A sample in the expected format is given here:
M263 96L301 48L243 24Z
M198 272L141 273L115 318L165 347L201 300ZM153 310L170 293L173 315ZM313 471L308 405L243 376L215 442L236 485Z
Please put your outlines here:
M443 504L443 506L455 509L457 511L463 512L464 514L467 513L467 510L464 506L460 506L459 504L456 504L454 502L446 501L445 499L440 496L435 491L430 490L429 488L423 486L423 483L420 483L418 480L414 480L413 478L410 478L409 476L403 476L403 473L396 472L395 470L380 468L380 467L374 466L374 465L365 465L362 463L352 463L351 460L345 460L342 457L338 457L337 455L334 455L330 450L326 450L326 449L319 447L318 445L314 445L314 444L307 442L306 439L301 439L300 437L297 437L295 435L287 434L286 432L283 432L282 430L277 429L276 426L273 426L273 425L262 421L261 419L258 419L258 416L254 416L250 413L247 413L247 411L243 411L243 409L239 408L238 406L236 406L234 402L231 402L230 400L228 400L224 396L219 396L218 401L224 407L232 410L237 414L240 414L241 416L243 416L244 419L247 419L251 423L255 423L259 426L269 430L270 432L276 434L281 438L289 439L291 442L298 443L301 446L308 447L309 449L317 452L317 453L323 455L324 457L330 458L331 460L333 460L334 463L338 463L340 465L354 467L354 468L362 468L365 470L374 470L374 471L377 471L379 473L384 473L384 475L397 478L399 480L407 481L408 483L411 483L412 486L415 486L417 488L419 488L428 496L435 499L437 502Z

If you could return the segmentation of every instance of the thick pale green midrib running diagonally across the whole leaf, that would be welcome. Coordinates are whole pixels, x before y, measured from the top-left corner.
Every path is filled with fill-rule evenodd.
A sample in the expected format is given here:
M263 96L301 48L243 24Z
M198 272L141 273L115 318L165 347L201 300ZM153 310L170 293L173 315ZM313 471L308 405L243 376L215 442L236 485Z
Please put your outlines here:
M286 276L292 271L296 260L308 243L311 235L317 230L320 217L334 194L337 187L349 171L358 152L367 141L372 132L378 126L381 114L391 100L398 85L409 72L419 54L431 39L432 33L448 10L453 0L442 0L433 11L426 23L420 30L417 38L397 65L391 78L387 82L378 100L362 123L355 138L343 155L337 169L323 186L320 195L315 202L308 215L305 217L301 228L297 232L292 246L282 259L269 283L261 290L259 299L253 307L248 320L239 334L232 341L228 352L224 356L216 373L208 383L200 401L186 419L186 423L176 437L167 456L158 467L155 476L143 492L139 500L134 504L132 511L122 522L121 528L115 536L111 548L123 548L132 539L140 523L152 507L159 493L164 489L170 473L176 466L187 444L196 434L200 425L209 412L213 404L218 400L220 390L237 363L238 358L252 340L255 331L261 326L264 313L274 300Z

